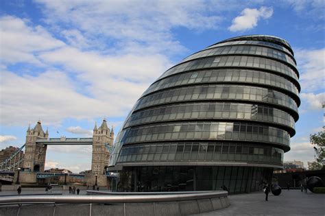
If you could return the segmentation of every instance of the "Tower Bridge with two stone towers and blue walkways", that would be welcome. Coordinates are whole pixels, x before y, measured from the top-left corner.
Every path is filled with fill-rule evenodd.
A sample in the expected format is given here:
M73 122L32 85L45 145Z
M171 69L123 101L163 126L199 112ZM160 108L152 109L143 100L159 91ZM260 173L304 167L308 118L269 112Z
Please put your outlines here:
M69 176L84 178L84 182L89 186L106 186L110 178L115 178L112 173L106 173L113 142L114 130L113 128L108 128L106 119L103 120L99 128L97 128L95 123L93 137L86 138L67 138L65 136L49 138L48 130L44 132L40 121L38 121L34 128L31 129L29 126L27 129L25 144L19 149L21 151L25 147L25 156L19 162L13 164L16 167L23 164L23 168L21 168L20 173L15 178L19 178L21 183L37 183L40 179L60 175L59 173L44 172L47 145L92 145L91 173L84 175L72 173ZM15 152L14 154L17 153ZM14 158L14 154L10 157L11 159L8 158L8 160L1 163L0 171L5 171L9 164L12 166L10 160ZM16 181L18 182L18 180Z

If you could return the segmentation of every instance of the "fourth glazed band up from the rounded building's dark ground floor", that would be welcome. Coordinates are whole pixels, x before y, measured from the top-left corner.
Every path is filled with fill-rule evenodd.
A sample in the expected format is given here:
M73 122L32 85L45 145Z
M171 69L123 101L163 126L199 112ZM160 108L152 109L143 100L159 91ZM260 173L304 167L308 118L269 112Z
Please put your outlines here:
M274 91L270 88L225 84L200 84L159 91L141 97L135 110L160 104L198 100L256 101L265 104L272 104L274 106L284 106L285 108L298 113L296 101L285 93L280 93L279 91Z

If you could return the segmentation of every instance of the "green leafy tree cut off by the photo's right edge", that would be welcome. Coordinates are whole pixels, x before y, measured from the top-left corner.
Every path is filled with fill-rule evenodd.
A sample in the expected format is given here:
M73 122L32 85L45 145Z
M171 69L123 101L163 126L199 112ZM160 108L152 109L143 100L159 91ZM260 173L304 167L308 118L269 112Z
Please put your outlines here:
M317 155L316 161L313 163L312 169L325 169L325 133L318 132L311 134L311 145L314 145L315 154Z

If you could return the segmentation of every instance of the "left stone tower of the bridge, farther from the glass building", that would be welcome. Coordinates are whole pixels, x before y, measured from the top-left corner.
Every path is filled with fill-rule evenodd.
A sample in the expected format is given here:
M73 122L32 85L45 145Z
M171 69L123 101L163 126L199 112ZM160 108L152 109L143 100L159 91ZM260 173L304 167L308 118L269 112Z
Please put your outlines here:
M44 132L40 121L38 121L34 129L27 129L24 168L30 169L32 172L43 172L45 167L45 156L47 145L36 143L36 139L47 139L49 132Z

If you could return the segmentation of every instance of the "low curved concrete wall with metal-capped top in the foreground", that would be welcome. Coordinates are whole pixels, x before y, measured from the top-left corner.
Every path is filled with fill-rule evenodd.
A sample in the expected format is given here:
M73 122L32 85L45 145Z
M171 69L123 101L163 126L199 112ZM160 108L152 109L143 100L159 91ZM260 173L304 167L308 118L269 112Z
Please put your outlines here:
M95 193L95 191L93 191ZM225 191L0 197L0 215L190 215L226 208ZM8 206L11 204L11 206ZM23 206L12 206L23 204Z

